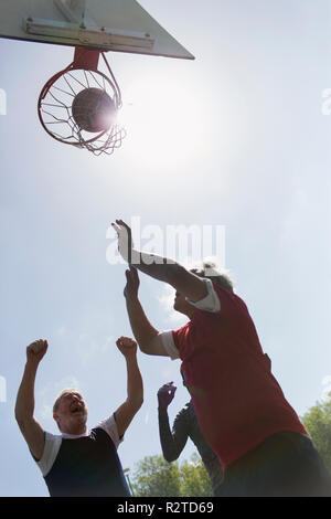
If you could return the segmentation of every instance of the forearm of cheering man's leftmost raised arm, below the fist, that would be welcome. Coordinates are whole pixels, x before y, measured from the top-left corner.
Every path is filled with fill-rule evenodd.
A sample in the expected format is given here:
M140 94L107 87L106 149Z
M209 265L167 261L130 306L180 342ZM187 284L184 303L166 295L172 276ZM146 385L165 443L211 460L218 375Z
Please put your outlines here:
M36 370L38 364L26 362L15 403L15 419L18 422L33 417Z

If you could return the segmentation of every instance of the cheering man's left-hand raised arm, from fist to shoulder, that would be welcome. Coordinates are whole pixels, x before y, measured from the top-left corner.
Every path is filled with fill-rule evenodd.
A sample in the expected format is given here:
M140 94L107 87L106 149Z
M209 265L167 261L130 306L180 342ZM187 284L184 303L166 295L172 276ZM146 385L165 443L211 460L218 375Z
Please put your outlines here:
M44 431L33 416L34 382L40 361L47 350L46 340L36 340L26 348L26 363L15 403L15 419L28 446L36 459L44 451Z

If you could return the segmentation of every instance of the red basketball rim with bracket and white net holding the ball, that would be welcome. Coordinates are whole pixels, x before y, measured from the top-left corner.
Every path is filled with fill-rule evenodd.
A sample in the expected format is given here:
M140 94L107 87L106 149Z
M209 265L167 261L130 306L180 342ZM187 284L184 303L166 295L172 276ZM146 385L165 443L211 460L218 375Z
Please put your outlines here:
M102 54L109 77L97 70ZM121 107L119 86L104 52L75 49L73 63L41 91L38 113L43 128L61 142L111 155L126 131L116 121Z

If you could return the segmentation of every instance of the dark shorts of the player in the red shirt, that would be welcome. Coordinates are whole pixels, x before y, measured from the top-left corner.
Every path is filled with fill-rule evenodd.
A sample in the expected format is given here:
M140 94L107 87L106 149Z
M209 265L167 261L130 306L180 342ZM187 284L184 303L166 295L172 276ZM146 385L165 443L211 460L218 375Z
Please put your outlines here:
M308 436L278 433L231 464L221 497L331 497L331 476Z

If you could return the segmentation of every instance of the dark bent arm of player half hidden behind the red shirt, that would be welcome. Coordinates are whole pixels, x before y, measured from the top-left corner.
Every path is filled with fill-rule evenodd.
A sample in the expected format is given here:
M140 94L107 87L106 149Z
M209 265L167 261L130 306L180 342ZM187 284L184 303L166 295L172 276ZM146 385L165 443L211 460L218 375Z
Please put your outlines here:
M172 432L170 431L168 405L172 402L175 390L173 383L169 382L158 391L160 442L163 457L169 463L178 459L189 437L182 413L177 415Z

